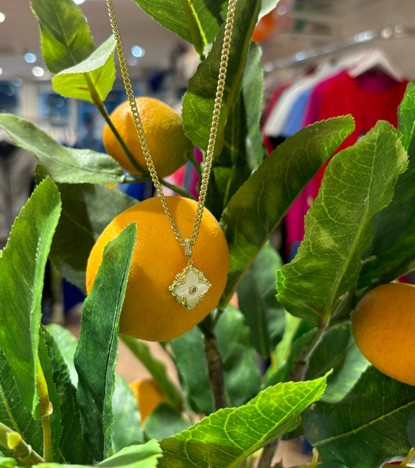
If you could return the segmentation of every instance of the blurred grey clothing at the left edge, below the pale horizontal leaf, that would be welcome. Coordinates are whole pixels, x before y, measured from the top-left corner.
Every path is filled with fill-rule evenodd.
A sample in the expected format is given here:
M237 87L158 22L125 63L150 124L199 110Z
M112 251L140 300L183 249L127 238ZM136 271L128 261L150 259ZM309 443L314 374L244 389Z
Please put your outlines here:
M15 146L0 128L0 249L7 243L12 225L30 196L36 158Z

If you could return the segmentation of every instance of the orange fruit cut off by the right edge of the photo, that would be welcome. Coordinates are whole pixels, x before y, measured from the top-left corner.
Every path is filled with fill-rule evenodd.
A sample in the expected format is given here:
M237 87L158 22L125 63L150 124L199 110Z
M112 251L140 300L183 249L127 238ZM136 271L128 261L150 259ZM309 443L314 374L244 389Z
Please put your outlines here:
M352 330L373 366L415 385L415 286L389 283L369 291L355 307Z

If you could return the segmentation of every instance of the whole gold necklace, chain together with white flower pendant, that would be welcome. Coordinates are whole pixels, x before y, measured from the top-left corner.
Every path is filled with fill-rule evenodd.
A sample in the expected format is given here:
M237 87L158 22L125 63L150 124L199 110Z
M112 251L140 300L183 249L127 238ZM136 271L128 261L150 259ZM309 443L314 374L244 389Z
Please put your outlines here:
M121 43L121 36L118 30L117 20L114 13L113 1L106 0L108 13L111 19L111 26L113 28L113 34L117 43L117 53L120 62L122 78L124 80L124 86L127 92L131 113L134 119L134 123L136 124L137 133L140 138L141 148L143 150L145 161L150 172L151 180L153 181L154 187L158 193L158 197L160 198L164 211L166 212L167 218L170 221L176 239L179 242L179 244L184 247L185 255L188 258L187 267L176 275L173 284L169 287L169 291L176 298L177 302L182 304L184 307L187 307L189 310L192 310L193 307L195 307L200 300L203 300L206 292L208 292L209 288L211 288L211 283L208 281L207 278L205 278L204 272L198 270L193 265L192 246L196 244L197 236L199 235L199 229L202 223L204 202L206 200L206 192L209 184L209 177L211 175L216 134L218 132L220 110L222 105L223 93L225 90L226 70L229 59L232 28L234 25L236 1L237 0L229 0L228 3L225 36L223 39L222 56L220 59L218 87L216 88L215 107L213 110L211 133L209 136L209 143L206 152L203 177L200 184L199 200L197 202L193 230L190 237L186 237L186 239L183 239L180 229L177 227L173 216L171 215L170 210L167 206L166 198L163 194L163 189L161 187L160 181L158 180L156 168L154 167L153 160L151 159L150 149L145 138L143 125L141 123L140 115L136 104L136 98L134 97L133 88L129 79L127 63L125 60L124 50L122 48Z

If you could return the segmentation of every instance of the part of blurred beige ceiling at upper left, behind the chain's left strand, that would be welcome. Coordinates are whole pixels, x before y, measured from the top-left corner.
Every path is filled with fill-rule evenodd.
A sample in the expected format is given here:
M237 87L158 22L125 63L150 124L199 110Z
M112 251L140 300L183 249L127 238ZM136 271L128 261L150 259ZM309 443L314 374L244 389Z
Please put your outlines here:
M137 59L137 66L130 67L131 74L140 73L142 68L168 67L171 51L177 44L185 42L162 28L133 0L113 0L113 4L126 56L135 44L146 52ZM85 0L80 7L90 24L95 44L101 44L111 35L106 1ZM44 66L44 63L39 48L38 22L30 10L30 0L0 0L0 11L6 15L6 20L0 23L0 67L3 70L0 79L16 76L34 79L32 67ZM36 54L35 64L24 61L26 52ZM45 75L43 78L49 77Z

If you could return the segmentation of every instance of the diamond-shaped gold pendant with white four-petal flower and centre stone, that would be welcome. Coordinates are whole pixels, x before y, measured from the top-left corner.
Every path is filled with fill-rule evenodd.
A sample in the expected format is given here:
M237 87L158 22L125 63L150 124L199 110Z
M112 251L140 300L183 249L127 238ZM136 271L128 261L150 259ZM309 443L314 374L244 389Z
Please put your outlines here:
M205 278L204 272L189 264L181 273L176 275L169 291L177 302L192 310L211 288L211 283Z

